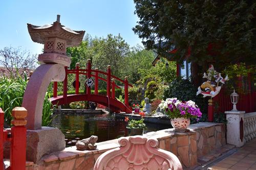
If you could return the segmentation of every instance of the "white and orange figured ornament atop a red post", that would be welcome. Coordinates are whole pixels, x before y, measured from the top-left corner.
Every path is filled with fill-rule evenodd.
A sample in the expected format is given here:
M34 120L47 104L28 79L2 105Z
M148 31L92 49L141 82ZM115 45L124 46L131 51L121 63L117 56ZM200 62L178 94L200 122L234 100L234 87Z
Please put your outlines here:
M209 66L207 74L204 72L203 78L206 78L207 81L203 82L202 85L198 87L197 95L202 94L204 98L206 96L214 98L214 96L219 94L221 90L221 84L219 83L225 84L225 82L228 80L228 76L223 79L221 74L214 69L213 65ZM202 89L205 91L202 91Z

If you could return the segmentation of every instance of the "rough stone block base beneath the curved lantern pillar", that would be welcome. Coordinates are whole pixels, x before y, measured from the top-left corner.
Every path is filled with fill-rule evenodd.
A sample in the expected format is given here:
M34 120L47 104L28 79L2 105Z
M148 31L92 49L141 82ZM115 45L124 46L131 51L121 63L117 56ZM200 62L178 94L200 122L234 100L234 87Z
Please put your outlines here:
M57 128L27 130L27 161L38 163L42 156L62 151L65 147L65 136Z

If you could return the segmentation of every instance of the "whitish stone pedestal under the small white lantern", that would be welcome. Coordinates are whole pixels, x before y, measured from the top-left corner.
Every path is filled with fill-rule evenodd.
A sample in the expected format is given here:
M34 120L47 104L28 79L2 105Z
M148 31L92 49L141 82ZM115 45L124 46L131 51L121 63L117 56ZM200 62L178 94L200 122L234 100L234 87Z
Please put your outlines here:
M227 115L227 143L242 147L244 139L245 111L225 111Z

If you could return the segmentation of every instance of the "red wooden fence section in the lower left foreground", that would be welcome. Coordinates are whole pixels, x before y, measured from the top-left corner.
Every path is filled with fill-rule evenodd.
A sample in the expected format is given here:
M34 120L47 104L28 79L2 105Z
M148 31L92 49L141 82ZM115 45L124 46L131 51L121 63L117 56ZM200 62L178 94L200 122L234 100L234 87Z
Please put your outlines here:
M10 153L10 169L25 170L26 169L26 127L27 110L23 107L15 107L12 110L13 127L11 133L8 134L4 130L4 112L0 108L0 170L4 169L4 142L11 143Z

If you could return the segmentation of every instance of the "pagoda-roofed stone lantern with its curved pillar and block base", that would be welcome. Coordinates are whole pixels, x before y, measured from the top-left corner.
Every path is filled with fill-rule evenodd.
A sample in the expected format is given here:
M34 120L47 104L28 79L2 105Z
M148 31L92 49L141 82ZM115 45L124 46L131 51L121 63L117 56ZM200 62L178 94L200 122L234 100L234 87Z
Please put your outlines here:
M27 160L38 163L42 156L66 147L65 136L59 129L41 127L42 107L49 84L65 79L65 67L71 63L66 48L78 46L84 31L62 26L59 15L53 24L41 27L28 24L28 31L34 42L44 44L44 53L38 56L41 65L29 79L22 104L28 111Z

